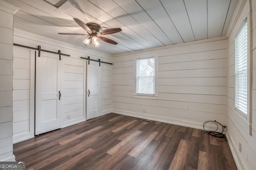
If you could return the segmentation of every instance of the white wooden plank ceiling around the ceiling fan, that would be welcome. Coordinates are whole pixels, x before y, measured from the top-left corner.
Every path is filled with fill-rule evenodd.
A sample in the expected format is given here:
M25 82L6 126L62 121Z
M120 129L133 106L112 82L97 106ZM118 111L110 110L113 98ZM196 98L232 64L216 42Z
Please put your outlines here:
M14 28L109 54L225 36L238 0L5 0L20 7ZM116 42L85 47L73 18L95 22ZM26 44L24 44L26 45Z

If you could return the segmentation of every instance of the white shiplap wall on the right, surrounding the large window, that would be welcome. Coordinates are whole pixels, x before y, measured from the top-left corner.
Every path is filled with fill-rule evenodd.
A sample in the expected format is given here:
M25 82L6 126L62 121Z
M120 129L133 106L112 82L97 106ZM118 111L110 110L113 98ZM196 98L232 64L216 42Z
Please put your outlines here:
M232 154L238 166L238 169L256 169L256 1L249 0L240 1L241 6L239 13L237 8L237 15L233 16L234 28L229 30L230 36L228 38L228 134L230 136L229 144ZM250 95L252 97L252 120L244 119L239 113L235 111L235 36L238 33L240 26L244 19L247 18L250 27L250 8L252 9L252 31L248 34L252 38L252 89ZM249 132L252 132L250 135ZM241 152L239 152L239 143L242 144Z

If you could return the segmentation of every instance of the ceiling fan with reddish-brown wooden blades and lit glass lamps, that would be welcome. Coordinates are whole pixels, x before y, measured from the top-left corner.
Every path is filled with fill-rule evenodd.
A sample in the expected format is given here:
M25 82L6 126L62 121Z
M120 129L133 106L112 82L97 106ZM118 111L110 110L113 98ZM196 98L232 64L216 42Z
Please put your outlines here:
M107 43L111 43L111 44L118 44L117 42L115 42L114 40L111 40L109 38L105 38L105 37L101 37L101 35L107 35L107 34L114 34L117 32L122 31L121 28L110 28L110 29L106 29L106 30L101 30L100 28L101 26L99 24L96 24L94 22L88 22L88 23L84 23L81 20L79 20L78 18L73 18L75 20L75 22L82 27L84 30L86 30L87 34L78 34L78 33L58 33L58 34L62 34L62 35L75 35L75 36L90 36L89 38L86 38L83 43L88 46L91 43L93 43L93 45L95 47L99 47L100 46L100 42L99 39L107 42Z

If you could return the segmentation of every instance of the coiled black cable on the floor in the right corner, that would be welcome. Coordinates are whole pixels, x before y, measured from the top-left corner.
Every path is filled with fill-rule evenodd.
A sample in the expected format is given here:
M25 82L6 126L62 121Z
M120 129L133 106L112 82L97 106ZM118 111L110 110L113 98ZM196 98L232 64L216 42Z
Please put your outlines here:
M212 123L215 123L215 125L217 126L216 130L214 131L208 131L208 130L205 130L205 125L209 122L212 122ZM222 132L217 132L218 128L219 128L219 125L222 127ZM217 121L206 121L204 122L203 124L203 128L205 130L206 133L210 134L212 137L214 137L215 139L217 140L220 140L220 141L226 141L227 140L227 137L225 134L223 134L223 132L226 132L225 128L226 126L223 126L222 124L218 123Z

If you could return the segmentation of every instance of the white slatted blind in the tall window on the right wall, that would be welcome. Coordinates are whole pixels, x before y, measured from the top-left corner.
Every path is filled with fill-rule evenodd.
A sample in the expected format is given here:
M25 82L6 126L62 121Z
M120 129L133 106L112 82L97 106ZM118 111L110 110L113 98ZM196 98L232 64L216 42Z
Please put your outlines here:
M247 22L236 36L235 108L247 114Z

